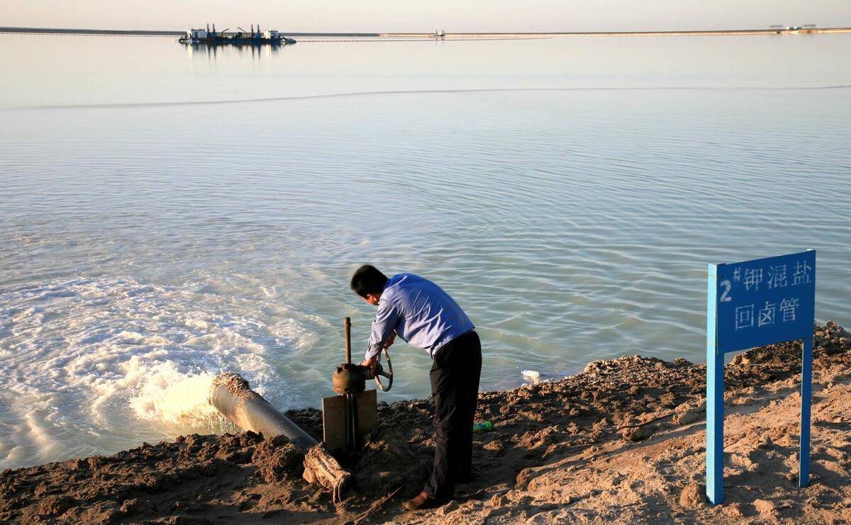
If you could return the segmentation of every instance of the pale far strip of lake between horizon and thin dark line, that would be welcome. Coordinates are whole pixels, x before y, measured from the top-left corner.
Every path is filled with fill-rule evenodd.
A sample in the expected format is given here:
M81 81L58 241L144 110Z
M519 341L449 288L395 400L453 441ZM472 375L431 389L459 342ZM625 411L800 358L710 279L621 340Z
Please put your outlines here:
M187 60L177 51L174 37L0 35L7 80L0 81L0 107L354 92L851 84L851 70L844 67L849 34L472 42L300 38L286 52L197 46L187 48Z

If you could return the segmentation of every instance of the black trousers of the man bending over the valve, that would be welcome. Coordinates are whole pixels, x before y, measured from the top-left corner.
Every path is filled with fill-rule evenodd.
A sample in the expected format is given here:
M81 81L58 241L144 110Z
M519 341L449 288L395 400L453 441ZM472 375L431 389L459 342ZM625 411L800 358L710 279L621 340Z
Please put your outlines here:
M437 449L426 493L448 500L455 480L469 477L473 452L473 417L482 374L482 343L473 331L456 337L437 351L431 366L431 396Z

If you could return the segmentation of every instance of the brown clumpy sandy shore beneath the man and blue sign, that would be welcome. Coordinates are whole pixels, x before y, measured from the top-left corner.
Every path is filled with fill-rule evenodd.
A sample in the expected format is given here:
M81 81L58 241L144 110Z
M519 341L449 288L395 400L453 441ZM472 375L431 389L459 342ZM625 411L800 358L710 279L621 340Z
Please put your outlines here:
M357 485L338 505L301 480L291 443L249 432L3 471L0 522L851 522L851 335L816 328L808 488L797 488L799 375L797 343L728 365L726 501L714 507L703 496L705 365L635 356L482 392L478 419L494 432L476 435L475 479L437 510L399 508L434 445L430 402L412 400L380 404L380 429L345 459ZM319 436L317 410L288 415Z

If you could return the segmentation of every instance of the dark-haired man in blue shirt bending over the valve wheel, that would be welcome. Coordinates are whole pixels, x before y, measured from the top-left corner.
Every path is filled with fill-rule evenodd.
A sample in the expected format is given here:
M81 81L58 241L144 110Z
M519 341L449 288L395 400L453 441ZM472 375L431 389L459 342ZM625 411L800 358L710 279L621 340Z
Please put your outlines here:
M426 488L403 504L408 511L433 508L451 500L455 483L469 481L472 426L476 414L482 345L470 318L440 286L414 274L387 279L373 266L357 268L351 289L378 307L363 365L375 370L382 348L396 336L431 356L431 396L437 449Z

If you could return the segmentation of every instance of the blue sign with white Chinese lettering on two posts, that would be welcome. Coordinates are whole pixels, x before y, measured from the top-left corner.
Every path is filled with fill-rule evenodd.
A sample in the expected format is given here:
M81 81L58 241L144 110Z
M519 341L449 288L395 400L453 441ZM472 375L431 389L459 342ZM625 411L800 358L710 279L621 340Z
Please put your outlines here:
M815 251L710 264L706 302L706 500L724 501L724 354L803 340L798 486L809 479Z

